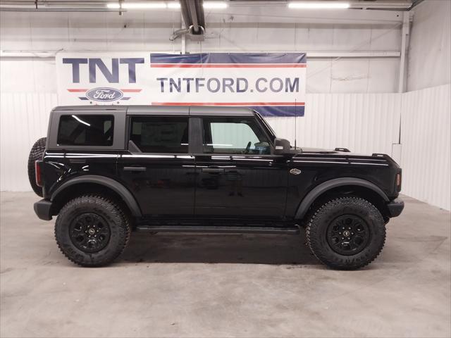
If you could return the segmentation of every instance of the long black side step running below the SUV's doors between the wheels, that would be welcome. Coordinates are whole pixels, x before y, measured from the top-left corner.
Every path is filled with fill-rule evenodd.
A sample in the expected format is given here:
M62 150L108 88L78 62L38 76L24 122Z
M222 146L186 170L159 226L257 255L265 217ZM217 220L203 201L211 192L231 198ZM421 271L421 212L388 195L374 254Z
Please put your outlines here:
M149 232L205 232L221 234L299 234L299 227L215 227L192 225L140 225L137 231Z

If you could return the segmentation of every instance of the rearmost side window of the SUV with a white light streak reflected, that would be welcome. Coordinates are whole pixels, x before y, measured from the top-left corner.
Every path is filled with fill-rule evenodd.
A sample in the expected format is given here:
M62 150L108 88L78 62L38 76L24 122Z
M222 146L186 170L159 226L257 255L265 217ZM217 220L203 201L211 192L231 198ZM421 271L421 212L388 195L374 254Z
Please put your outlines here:
M62 115L58 127L59 146L111 146L113 115Z

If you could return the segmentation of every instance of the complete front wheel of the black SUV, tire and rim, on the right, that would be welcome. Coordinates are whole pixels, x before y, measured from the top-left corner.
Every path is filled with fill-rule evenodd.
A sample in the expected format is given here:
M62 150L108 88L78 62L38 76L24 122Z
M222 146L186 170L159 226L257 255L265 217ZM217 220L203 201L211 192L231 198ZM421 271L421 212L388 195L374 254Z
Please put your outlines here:
M385 243L385 223L369 201L333 199L318 208L306 228L307 244L330 268L355 270L371 263Z

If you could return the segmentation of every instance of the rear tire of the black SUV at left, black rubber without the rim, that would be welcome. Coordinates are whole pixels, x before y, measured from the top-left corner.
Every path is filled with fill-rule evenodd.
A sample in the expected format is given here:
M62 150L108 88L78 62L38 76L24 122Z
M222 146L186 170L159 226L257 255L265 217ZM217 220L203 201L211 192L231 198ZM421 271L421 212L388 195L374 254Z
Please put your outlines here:
M97 252L86 252L75 246L70 237L70 226L82 214L95 214L109 226L109 240ZM94 267L114 261L125 249L130 239L130 220L118 204L97 195L80 196L61 208L55 223L55 238L61 252L78 265Z

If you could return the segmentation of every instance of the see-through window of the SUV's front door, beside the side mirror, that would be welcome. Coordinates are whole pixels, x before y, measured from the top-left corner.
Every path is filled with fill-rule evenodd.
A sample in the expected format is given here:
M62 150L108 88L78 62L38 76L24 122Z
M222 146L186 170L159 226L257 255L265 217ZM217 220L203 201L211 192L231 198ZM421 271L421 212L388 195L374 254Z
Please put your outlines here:
M271 154L268 137L254 118L204 118L204 153Z

